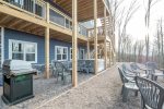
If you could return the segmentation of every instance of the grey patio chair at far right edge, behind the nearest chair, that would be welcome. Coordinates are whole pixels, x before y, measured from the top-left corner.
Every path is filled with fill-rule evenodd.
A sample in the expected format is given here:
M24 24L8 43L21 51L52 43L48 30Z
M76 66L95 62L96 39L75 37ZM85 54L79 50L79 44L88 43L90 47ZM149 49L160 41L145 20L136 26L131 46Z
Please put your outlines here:
M151 80L157 81L157 76L164 77L164 70L157 68L157 63L155 62L147 62L147 68L150 69L149 73L151 75Z

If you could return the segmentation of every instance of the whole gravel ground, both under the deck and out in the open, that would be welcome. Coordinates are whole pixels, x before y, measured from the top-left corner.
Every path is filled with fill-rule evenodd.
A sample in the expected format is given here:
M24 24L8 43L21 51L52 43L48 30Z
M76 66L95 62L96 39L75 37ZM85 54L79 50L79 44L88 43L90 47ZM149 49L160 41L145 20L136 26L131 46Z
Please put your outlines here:
M94 74L79 74L79 86L71 88L68 84L55 84L54 78L35 80L35 98L19 105L7 107L2 101L0 109L140 109L140 95L129 94L128 101L122 102L121 82L117 65ZM164 80L159 80L164 86ZM39 84L39 86L38 86ZM45 84L47 84L45 86ZM60 95L62 93L62 95ZM2 88L0 89L2 94Z

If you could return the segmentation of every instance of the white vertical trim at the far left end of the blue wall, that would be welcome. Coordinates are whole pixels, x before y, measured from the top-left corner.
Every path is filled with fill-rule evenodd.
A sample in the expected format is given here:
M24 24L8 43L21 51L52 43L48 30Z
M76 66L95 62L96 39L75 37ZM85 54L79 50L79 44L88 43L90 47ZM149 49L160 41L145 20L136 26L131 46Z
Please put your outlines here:
M3 61L4 61L4 27L1 27L0 26L0 29L1 29L1 66L3 64Z

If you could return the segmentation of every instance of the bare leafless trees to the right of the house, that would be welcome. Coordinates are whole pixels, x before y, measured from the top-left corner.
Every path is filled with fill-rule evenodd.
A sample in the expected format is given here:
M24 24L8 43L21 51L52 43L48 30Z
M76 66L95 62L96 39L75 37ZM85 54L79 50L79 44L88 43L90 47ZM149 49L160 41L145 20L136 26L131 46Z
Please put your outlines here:
M164 51L163 51L163 17L156 22L155 34L150 33L151 11L160 0L144 0L144 26L145 35L143 39L133 39L132 35L127 33L127 25L134 16L136 12L140 10L137 0L132 0L129 7L122 7L124 1L115 1L115 29L118 36L117 61L118 62L147 62L156 61L160 68L164 66ZM139 36L141 37L141 36Z

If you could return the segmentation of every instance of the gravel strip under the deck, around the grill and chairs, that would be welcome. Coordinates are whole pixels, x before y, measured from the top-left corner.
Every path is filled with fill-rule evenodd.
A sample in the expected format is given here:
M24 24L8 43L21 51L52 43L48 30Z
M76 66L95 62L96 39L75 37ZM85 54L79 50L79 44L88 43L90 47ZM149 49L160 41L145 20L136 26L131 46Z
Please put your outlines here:
M94 74L79 73L79 82L83 82L92 77ZM14 106L7 106L0 98L0 109L34 109L42 105L43 102L67 92L71 88L70 77L67 84L63 85L62 82L51 77L49 80L37 78L34 80L34 95L35 97ZM0 95L2 95L2 87L0 87Z

